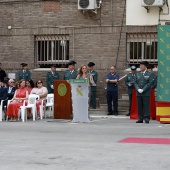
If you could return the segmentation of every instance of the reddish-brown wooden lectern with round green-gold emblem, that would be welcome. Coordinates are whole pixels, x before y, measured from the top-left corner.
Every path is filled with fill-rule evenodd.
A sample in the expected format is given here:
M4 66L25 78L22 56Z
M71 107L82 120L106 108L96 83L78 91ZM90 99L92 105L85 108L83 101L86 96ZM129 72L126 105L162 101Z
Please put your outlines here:
M71 86L66 80L54 81L54 119L72 119Z

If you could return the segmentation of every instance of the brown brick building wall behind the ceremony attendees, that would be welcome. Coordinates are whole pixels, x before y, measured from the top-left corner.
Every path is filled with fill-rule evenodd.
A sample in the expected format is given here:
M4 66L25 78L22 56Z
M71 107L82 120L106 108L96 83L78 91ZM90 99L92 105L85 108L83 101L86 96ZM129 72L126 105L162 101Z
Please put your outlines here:
M45 82L47 71L35 71L34 36L69 34L70 59L77 61L77 68L89 61L96 63L97 97L106 103L104 87L109 67L116 65L120 77L126 74L126 33L156 30L126 26L125 7L124 0L105 0L96 15L79 11L77 0L0 0L0 62L7 72L14 73L26 62L32 79ZM63 71L59 73L62 77ZM126 93L123 81L119 97L122 93Z

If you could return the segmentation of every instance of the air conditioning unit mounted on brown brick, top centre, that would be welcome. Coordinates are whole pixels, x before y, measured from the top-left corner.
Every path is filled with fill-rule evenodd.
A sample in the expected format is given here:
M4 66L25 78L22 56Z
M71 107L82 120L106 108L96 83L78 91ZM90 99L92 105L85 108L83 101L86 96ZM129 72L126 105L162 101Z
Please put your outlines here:
M97 8L96 0L78 0L78 9L80 10L89 10L96 8Z

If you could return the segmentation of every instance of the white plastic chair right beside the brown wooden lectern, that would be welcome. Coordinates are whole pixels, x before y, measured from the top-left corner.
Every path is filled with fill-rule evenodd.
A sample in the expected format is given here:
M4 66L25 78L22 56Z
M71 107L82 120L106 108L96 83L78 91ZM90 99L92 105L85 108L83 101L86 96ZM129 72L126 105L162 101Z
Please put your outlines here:
M47 98L46 98L46 104L45 104L45 111L44 111L44 117L46 118L46 109L50 108L51 112L52 112L52 116L53 116L53 108L54 108L54 94L47 94ZM50 113L51 113L50 112ZM50 114L49 113L49 117Z

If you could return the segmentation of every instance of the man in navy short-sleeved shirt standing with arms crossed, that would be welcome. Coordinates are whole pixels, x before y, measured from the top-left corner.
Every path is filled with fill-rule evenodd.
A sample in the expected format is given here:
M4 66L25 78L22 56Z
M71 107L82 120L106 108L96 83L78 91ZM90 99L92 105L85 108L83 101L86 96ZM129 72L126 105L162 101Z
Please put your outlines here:
M107 105L108 114L107 115L118 115L118 82L119 75L116 73L114 66L110 67L110 73L106 76L107 83ZM113 102L113 108L112 108Z

